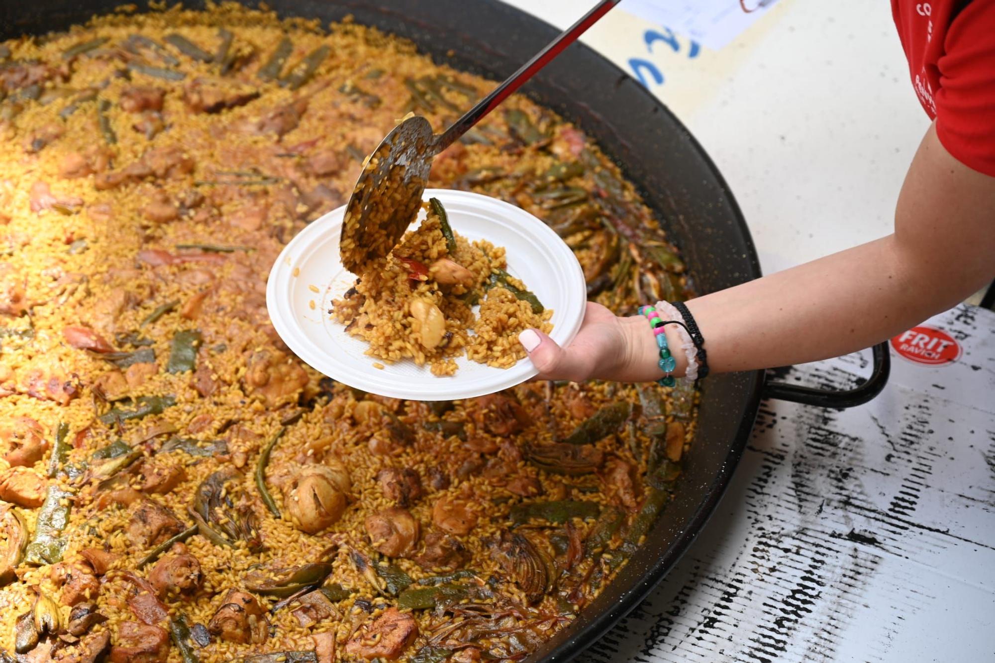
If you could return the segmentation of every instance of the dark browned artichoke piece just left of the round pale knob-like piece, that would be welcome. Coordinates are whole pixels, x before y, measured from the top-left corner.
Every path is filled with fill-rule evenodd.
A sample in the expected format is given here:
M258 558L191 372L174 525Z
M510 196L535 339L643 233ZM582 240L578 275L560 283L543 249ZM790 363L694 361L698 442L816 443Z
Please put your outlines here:
M244 541L252 552L264 550L256 514L239 486L242 473L228 467L210 475L197 487L190 515L200 533L218 546Z

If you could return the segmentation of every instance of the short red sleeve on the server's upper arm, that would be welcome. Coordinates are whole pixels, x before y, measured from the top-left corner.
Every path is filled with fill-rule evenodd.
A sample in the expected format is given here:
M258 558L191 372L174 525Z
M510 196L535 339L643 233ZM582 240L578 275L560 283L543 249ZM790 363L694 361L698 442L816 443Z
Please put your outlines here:
M936 135L958 161L995 176L995 0L967 3L943 50Z

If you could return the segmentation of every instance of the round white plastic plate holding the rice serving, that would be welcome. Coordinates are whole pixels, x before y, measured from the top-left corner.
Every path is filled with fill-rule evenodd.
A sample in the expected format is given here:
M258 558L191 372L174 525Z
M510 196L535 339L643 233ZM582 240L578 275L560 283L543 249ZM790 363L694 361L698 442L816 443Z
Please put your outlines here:
M528 212L479 193L427 189L425 199L429 198L442 201L450 225L460 235L505 247L508 273L553 310L550 336L561 345L573 340L584 317L587 289L580 264L555 232ZM338 258L344 211L344 206L339 207L301 230L270 271L266 289L270 319L298 357L356 389L412 400L482 396L535 375L527 357L509 368L493 368L460 356L454 375L437 377L428 365L419 366L411 359L391 364L365 354L368 345L328 315L332 300L340 299L355 282ZM384 367L375 368L376 361Z

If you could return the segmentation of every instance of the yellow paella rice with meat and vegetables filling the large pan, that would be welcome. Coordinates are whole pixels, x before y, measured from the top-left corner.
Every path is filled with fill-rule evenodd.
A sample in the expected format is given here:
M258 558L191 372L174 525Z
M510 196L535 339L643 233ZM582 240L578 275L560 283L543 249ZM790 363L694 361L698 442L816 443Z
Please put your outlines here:
M693 390L382 398L267 318L266 271L396 118L446 124L493 85L234 5L0 43L2 660L517 660L611 582L679 489ZM535 214L618 313L683 298L618 168L505 104L430 184ZM501 278L494 305L524 314Z

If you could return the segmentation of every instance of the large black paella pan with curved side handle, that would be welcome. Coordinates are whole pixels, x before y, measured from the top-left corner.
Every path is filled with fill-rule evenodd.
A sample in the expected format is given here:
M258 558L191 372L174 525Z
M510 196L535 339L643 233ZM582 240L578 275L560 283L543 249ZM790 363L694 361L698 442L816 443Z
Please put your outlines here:
M119 0L4 2L0 39L66 29L118 4ZM556 33L497 0L271 0L269 5L281 16L323 22L352 15L358 23L413 41L438 62L497 80ZM592 50L574 45L524 92L576 122L620 164L669 239L681 249L697 293L760 276L749 232L715 166L681 122L632 78ZM765 393L822 406L859 404L884 385L886 359L876 348L875 377L846 394L765 385L759 371L708 377L701 387L697 437L684 460L675 499L650 530L642 551L579 618L541 646L534 659L577 655L674 566L721 498Z

